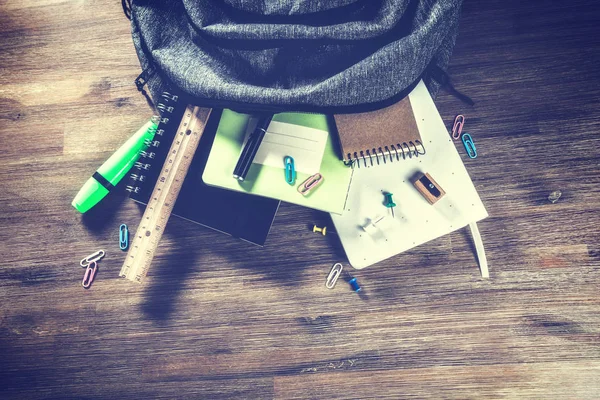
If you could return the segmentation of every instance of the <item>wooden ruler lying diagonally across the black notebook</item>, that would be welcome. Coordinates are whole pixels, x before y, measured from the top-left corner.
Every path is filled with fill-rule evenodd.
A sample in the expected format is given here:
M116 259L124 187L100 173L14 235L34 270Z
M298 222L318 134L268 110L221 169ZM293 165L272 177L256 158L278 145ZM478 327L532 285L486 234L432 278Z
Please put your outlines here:
M209 108L187 106L119 276L141 283L204 133Z

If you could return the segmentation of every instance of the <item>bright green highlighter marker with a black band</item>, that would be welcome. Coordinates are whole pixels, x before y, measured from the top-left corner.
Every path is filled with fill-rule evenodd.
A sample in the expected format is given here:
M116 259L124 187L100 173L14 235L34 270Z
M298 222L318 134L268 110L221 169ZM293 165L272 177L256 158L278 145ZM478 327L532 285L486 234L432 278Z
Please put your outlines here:
M88 179L71 205L84 213L98 204L135 164L140 151L147 146L147 141L154 138L156 128L153 121L142 126Z

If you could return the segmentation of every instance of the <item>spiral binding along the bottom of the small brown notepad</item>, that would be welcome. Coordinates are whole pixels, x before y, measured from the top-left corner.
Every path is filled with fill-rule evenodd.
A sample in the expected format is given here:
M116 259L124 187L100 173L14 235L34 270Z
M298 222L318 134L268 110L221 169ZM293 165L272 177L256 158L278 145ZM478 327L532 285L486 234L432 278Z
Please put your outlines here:
M372 149L355 151L354 153L347 154L347 161L345 161L346 165L350 165L352 168L357 166L360 168L360 160L363 160L363 165L367 167L367 161L370 163L370 166L375 166L373 159L377 165L387 164L395 161L406 160L413 157L419 157L420 155L425 154L425 146L420 140L403 142L391 144L389 146L383 147L373 147Z

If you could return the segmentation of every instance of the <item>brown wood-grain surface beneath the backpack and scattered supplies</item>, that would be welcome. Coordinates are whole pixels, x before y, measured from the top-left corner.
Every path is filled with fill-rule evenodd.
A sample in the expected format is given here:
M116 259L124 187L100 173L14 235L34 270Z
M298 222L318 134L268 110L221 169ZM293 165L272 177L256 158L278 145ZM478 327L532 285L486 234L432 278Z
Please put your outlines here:
M123 188L80 186L153 111L116 0L0 2L0 398L600 396L600 4L466 0L450 73L475 101L491 279L465 231L356 271L326 214L283 204L264 248L173 219L118 278ZM556 203L550 192L560 190ZM104 248L90 290L79 260Z

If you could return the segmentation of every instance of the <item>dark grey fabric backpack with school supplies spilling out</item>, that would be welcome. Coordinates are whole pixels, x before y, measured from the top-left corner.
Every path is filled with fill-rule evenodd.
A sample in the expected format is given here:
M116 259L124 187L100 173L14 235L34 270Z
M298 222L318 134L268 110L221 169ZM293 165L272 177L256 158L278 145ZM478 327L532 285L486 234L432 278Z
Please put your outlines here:
M133 41L165 89L241 111L362 112L446 69L462 0L134 0ZM437 79L440 80L439 78Z

